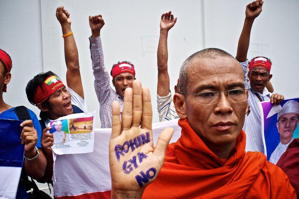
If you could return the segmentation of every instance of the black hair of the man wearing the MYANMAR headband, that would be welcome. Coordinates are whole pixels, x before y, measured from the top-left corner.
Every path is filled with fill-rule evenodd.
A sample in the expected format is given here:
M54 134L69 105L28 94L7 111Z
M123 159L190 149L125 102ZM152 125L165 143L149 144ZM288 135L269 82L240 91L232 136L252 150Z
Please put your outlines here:
M26 95L27 95L28 101L31 104L33 104L33 105L36 106L36 104L34 103L33 97L34 97L34 94L36 92L37 87L40 86L40 88L42 89L42 91L45 91L45 88L43 88L43 86L41 86L42 82L44 82L45 79L47 79L47 77L52 76L52 75L55 75L56 77L58 77L52 71L48 71L46 73L39 73L36 76L34 76L33 79L30 79L30 81L28 82L28 84L26 86ZM47 108L49 108L51 110L51 106L50 106L50 103L49 103L49 98L45 102L42 102L42 105L46 106ZM47 119L47 117L45 115L45 112L43 112L43 111L40 111L39 117L42 120L46 120Z

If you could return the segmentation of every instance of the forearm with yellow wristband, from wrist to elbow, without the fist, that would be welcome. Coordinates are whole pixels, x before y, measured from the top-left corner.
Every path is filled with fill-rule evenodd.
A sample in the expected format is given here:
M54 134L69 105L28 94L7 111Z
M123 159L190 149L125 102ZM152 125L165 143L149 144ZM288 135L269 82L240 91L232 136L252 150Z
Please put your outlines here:
M61 28L63 35L68 34L72 31L70 24L62 24ZM64 53L66 66L79 70L79 55L73 34L64 37Z

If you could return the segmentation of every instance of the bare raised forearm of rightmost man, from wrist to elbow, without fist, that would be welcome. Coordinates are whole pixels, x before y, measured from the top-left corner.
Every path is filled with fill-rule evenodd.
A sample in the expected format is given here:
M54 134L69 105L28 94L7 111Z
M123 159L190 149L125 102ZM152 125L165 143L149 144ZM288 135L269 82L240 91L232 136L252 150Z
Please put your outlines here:
M247 60L247 52L249 48L250 33L254 19L245 18L244 26L239 38L236 59L239 62Z

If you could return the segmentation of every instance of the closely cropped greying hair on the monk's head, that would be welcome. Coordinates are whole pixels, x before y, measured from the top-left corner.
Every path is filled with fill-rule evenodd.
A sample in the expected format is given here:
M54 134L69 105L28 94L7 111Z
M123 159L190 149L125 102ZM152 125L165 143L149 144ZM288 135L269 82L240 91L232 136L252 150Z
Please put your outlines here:
M187 96L187 88L188 88L188 73L189 73L189 67L190 64L192 62L192 60L194 58L216 58L216 57L230 57L233 58L234 60L236 60L231 54L229 54L228 52L218 49L218 48L206 48L203 49L201 51L198 51L192 55L190 55L185 61L184 63L181 65L180 68L180 74L179 74L179 85L178 87L181 90L181 93L183 93L183 95L186 97ZM237 60L236 60L237 61ZM237 61L239 63L239 61ZM240 65L240 63L239 63ZM240 65L241 67L241 65ZM243 70L242 70L243 71ZM244 73L244 71L243 71Z

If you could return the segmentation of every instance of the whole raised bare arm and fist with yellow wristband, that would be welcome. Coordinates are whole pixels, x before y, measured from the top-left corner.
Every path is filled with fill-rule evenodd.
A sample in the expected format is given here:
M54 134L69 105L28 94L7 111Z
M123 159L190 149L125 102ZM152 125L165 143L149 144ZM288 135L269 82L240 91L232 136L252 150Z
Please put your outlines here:
M60 6L56 9L56 17L60 22L62 28L62 34L68 34L71 30L70 13L64 9L64 6ZM82 99L84 99L84 92L79 67L79 55L76 46L74 35L71 34L64 37L64 56L66 71L66 83L69 88L75 91Z

